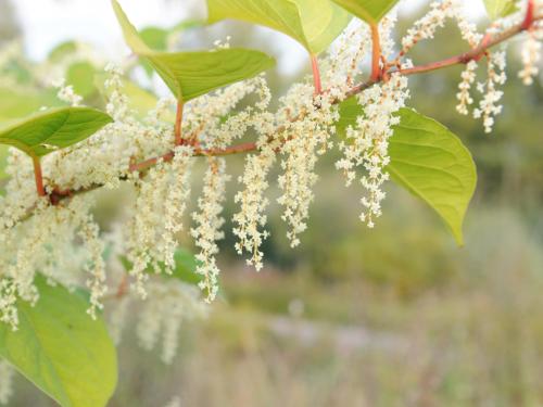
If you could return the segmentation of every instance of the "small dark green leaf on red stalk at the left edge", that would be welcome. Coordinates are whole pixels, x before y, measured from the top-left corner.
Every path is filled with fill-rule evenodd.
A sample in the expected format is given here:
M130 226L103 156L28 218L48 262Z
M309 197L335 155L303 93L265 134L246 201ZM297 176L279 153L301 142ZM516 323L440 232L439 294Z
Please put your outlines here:
M87 139L111 122L94 109L51 109L0 128L0 144L40 157Z

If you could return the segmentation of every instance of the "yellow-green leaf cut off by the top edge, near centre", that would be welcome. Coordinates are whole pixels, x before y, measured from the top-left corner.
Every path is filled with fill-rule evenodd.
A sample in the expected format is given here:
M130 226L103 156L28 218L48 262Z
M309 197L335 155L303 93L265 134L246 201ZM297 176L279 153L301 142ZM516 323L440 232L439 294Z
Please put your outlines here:
M318 54L343 31L351 15L329 0L207 0L209 22L241 20L281 31Z

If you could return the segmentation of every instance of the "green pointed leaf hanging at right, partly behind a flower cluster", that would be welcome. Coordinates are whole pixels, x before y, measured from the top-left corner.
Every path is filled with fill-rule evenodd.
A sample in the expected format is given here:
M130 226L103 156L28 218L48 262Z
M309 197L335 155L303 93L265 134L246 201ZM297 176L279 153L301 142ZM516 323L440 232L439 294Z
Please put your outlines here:
M338 133L344 136L361 114L356 98L341 103ZM462 226L477 183L471 154L440 123L409 109L402 109L399 115L401 122L390 139L391 163L387 170L394 182L433 208L462 245Z

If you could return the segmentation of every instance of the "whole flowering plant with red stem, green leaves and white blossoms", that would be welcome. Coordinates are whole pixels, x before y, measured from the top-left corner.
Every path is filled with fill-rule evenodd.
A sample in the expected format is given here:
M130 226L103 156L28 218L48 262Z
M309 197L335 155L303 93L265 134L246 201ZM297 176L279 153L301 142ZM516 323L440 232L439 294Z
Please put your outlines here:
M543 1L484 0L492 24L483 31L456 0L433 1L400 40L397 3L207 0L210 24L263 25L306 50L313 76L292 85L274 110L264 76L272 58L222 42L171 52L175 33L203 23L140 33L116 0L132 53L123 68L103 69L100 56L66 42L33 72L41 87L55 81L58 99L21 86L4 97L15 80L2 79L0 98L9 103L0 112L0 402L8 400L14 367L62 406L105 406L117 378L114 343L138 298L147 298L138 308L141 345L153 348L162 338L162 358L172 361L180 321L205 315L217 296L228 155L245 154L232 233L237 252L256 270L269 234L270 171L280 169L277 203L296 246L315 199L316 164L332 150L341 153L336 168L345 183L361 189L368 227L381 216L391 179L433 208L463 244L475 164L458 137L408 107L408 78L463 65L457 111L481 118L490 132L502 111L507 40L523 40L518 77L530 85L540 75ZM458 26L466 51L412 61L417 43L447 21ZM16 53L16 46L0 53L0 72ZM125 75L134 55L171 97L156 100ZM100 98L104 112L96 109ZM25 113L31 114L21 118ZM241 142L247 135L254 141ZM197 161L206 170L189 214ZM97 194L122 187L132 191L122 203L123 221L101 231L92 215ZM194 256L180 247L184 231L193 238Z

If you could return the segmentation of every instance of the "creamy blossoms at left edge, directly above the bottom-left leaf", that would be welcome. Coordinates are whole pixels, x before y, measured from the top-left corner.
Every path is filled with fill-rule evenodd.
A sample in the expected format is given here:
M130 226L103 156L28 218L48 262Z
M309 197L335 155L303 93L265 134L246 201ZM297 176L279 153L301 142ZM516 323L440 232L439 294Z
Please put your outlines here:
M12 185L13 187L13 185ZM31 187L30 187L31 188ZM35 201L36 202L36 201ZM1 205L4 204L4 205ZM10 213L10 199L0 202L3 214ZM8 225L5 217L0 224L0 320L16 327L16 297L35 303L39 293L34 285L37 270L67 287L77 283L75 276L91 278L89 313L102 308L105 294L105 269L102 259L103 242L98 227L89 215L92 199L75 196L65 207L48 206L43 200L36 202L36 216L24 222ZM72 251L75 253L70 254ZM66 255L64 255L66 253Z

